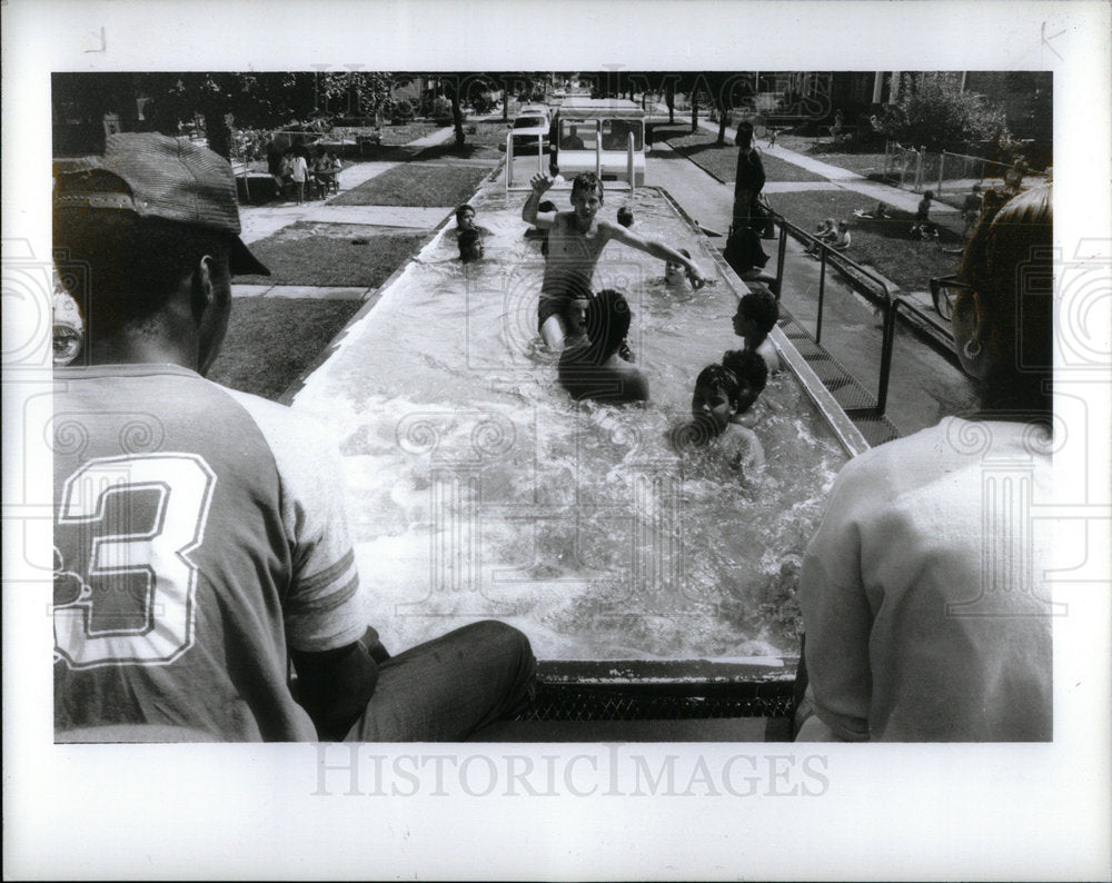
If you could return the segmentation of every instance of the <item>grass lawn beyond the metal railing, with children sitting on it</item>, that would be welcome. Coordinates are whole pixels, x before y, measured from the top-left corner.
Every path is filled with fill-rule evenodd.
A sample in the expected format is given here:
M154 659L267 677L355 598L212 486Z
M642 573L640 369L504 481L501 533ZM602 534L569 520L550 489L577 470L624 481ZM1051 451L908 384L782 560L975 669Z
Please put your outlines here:
M804 194L770 194L768 202L796 227L807 232L827 217L850 220L853 241L846 257L872 266L904 291L925 291L932 276L954 272L961 255L942 250L959 248L962 238L940 226L939 242L913 239L907 230L914 214L887 207L891 220L867 220L853 217L853 210L870 212L876 204L861 194L845 190L821 190Z

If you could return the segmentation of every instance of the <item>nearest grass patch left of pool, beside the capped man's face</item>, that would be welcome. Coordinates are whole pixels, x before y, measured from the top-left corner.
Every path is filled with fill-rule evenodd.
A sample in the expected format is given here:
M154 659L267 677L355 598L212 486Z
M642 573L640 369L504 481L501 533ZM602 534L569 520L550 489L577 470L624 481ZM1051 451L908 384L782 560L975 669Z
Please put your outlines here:
M361 300L238 297L210 380L277 399L363 306Z

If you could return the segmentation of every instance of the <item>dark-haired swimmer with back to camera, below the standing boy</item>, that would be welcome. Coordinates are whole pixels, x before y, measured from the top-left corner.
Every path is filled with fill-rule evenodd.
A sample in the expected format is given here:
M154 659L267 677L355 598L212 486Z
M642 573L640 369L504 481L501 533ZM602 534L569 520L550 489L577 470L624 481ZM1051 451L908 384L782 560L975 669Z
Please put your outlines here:
M648 377L619 356L632 312L620 291L612 288L574 300L568 338L557 368L572 398L610 404L648 400ZM579 328L583 334L577 334Z

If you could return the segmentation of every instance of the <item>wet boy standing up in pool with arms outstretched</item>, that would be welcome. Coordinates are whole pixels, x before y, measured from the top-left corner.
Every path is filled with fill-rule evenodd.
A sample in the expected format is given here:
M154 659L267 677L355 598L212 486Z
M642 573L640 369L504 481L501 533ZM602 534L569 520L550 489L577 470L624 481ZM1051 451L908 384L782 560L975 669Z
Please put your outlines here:
M553 182L538 173L534 176L532 185L533 192L522 209L522 219L542 230L548 230L548 261L540 284L537 328L545 344L553 349L563 348L575 295L590 291L598 256L612 239L661 260L683 265L696 288L706 281L698 265L674 248L598 218L598 210L603 207L603 182L594 172L582 172L572 182L572 211L539 214L540 197Z

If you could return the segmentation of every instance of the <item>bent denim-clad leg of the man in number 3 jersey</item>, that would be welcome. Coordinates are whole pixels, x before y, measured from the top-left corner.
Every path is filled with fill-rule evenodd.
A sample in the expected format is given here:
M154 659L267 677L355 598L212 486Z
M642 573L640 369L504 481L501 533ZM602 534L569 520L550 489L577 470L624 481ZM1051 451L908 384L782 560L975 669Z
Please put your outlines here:
M529 639L486 621L379 665L378 685L347 742L463 742L524 706L537 661Z

